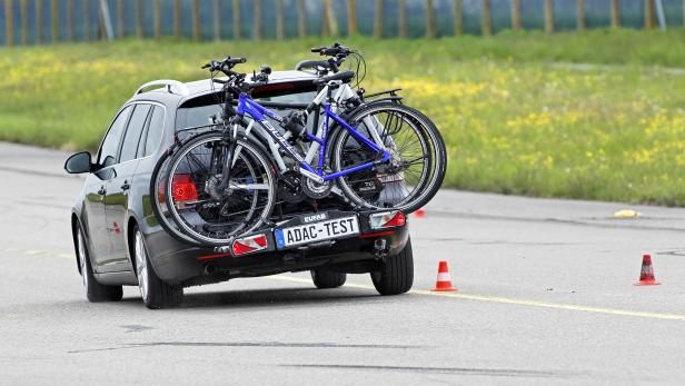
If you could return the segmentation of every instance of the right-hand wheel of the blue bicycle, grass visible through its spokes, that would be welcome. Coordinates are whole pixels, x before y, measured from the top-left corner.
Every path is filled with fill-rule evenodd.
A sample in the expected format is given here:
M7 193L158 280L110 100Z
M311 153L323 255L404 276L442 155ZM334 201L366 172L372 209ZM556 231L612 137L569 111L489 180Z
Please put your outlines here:
M391 155L387 162L338 178L351 201L413 212L435 196L445 178L447 157L443 138L428 118L406 106L381 102L363 108L349 121L363 136L380 140ZM337 132L331 148L334 171L381 160L381 155L345 129Z

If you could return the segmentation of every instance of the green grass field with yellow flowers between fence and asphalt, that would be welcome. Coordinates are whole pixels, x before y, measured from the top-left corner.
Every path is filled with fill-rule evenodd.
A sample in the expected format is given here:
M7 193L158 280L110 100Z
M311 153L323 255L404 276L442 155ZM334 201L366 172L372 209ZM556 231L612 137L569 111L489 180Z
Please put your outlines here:
M0 49L0 139L93 149L146 81L205 78L227 53L290 69L321 42ZM447 187L685 206L685 75L665 69L685 69L685 30L345 42L365 53L367 90L404 87L440 128Z

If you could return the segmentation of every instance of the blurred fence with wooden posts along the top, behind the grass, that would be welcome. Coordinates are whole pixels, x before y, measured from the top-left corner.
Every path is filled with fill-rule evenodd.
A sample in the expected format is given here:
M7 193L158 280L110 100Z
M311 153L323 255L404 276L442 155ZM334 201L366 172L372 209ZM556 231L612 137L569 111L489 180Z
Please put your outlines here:
M2 0L0 43L122 37L440 37L683 26L685 0ZM107 28L109 27L111 28ZM109 31L109 34L108 34Z

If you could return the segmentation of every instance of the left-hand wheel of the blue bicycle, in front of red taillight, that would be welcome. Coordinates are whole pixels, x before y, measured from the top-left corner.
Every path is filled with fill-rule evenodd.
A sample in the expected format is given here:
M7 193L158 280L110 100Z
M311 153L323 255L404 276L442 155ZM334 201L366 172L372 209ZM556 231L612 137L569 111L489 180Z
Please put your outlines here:
M224 167L232 147L229 180ZM276 198L269 158L248 139L230 142L218 132L200 135L171 157L165 196L171 218L186 236L205 245L226 245L232 237L268 221Z

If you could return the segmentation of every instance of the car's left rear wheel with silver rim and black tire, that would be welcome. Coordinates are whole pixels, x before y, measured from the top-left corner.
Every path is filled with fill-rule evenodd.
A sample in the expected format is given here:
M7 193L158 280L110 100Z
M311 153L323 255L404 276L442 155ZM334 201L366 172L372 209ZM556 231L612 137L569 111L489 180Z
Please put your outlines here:
M142 303L152 309L178 306L183 298L183 288L162 281L150 266L145 238L138 227L133 229L136 276Z

